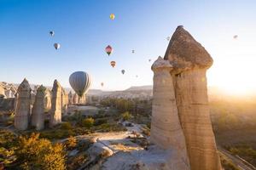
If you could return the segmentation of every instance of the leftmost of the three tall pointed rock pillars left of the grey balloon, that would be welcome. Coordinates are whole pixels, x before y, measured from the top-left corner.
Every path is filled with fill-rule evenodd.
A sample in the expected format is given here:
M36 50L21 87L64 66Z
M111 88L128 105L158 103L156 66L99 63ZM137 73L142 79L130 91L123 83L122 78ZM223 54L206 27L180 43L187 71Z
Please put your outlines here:
M20 83L15 108L15 128L26 130L29 123L31 88L26 78Z

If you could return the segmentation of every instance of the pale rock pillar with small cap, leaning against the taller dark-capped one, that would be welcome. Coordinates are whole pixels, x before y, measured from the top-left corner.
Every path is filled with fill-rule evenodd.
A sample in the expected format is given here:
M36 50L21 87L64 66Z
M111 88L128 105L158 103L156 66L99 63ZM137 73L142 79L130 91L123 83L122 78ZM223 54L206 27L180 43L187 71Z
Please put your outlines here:
M177 115L175 91L170 74L172 65L159 57L152 65L152 70L154 71L154 97L150 140L162 149L175 150L176 169L189 169L189 159ZM173 156L172 159L174 159Z

